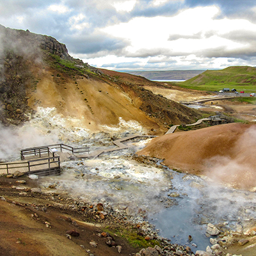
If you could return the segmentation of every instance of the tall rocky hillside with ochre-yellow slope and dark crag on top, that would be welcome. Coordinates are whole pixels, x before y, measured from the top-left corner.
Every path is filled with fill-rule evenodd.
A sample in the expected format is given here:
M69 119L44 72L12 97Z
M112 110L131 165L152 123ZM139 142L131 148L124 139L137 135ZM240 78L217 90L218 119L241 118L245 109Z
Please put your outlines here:
M143 88L156 85L152 81L99 70L72 58L66 46L51 36L1 26L0 41L0 118L4 125L22 124L33 118L38 107L54 108L71 126L90 131L136 121L156 134L201 116L199 111Z

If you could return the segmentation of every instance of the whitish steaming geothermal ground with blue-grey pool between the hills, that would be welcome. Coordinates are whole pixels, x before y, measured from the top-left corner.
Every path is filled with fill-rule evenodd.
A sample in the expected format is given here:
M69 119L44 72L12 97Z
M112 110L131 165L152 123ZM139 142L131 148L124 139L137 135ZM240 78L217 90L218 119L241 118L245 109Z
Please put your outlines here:
M104 132L94 134L75 124L74 120L56 115L55 109L38 109L36 118L23 127L1 132L1 141L4 141L1 159L18 158L17 148L49 143L106 149L115 147L111 142L113 138L144 132L137 122L121 119L114 131L106 132L103 127ZM251 138L253 131L249 130L246 136ZM134 161L132 155L148 141L128 141L129 149L103 154L96 159L67 161L62 164L60 176L40 177L39 184L42 188L54 185L56 191L79 201L101 202L116 212L147 218L159 228L162 236L172 239L173 243L188 244L194 251L205 250L209 244L209 238L205 237L208 223L220 224L223 230L241 232L255 225L255 193L227 188L206 177L174 172L161 164L157 168ZM242 142L239 145L244 145ZM253 140L247 145L252 148ZM188 235L193 237L191 243Z

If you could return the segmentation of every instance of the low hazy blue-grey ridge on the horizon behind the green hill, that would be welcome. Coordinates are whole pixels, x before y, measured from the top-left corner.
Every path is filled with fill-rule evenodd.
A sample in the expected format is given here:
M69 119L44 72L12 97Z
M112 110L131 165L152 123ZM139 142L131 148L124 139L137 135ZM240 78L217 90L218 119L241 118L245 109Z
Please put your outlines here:
M129 74L143 76L149 80L188 80L205 70L130 71Z

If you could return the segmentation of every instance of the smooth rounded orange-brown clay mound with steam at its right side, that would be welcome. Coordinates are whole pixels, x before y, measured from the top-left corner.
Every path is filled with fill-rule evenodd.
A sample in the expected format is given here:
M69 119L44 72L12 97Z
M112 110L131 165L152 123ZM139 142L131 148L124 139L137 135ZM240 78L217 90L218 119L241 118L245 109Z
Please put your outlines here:
M256 190L256 125L223 124L159 136L137 152L170 168Z

